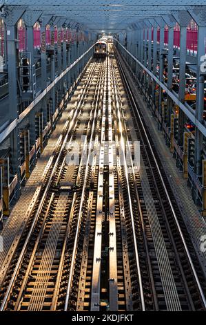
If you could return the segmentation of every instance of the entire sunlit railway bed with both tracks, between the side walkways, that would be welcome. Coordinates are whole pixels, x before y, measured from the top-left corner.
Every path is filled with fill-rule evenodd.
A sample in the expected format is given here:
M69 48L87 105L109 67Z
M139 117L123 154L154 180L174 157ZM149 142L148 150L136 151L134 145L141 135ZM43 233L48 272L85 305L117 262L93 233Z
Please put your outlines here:
M203 272L116 53L87 68L37 190L1 311L205 310Z

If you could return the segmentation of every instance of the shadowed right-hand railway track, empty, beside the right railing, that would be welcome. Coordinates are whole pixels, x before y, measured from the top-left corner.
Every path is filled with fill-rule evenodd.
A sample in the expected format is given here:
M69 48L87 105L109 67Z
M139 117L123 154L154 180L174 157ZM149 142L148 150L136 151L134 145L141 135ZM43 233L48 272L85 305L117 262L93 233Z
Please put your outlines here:
M149 230L148 237L152 239L154 245L154 253L150 255L156 255L156 257L158 257L159 254L165 252L166 248L171 268L170 272L172 271L174 278L174 283L171 285L171 277L169 277L168 271L165 272L165 257L159 255L159 261L156 265L154 259L152 259L152 268L156 268L154 272L155 276L160 272L158 287L156 287L155 291L156 293L161 292L162 297L160 299L161 304L159 304L158 295L154 295L157 303L156 307L163 310L178 310L178 308L180 308L180 310L205 310L205 280L200 264L198 263L198 257L195 253L192 241L189 238L185 224L183 223L183 218L178 209L174 194L172 194L172 190L169 187L169 182L161 166L161 161L158 159L154 145L152 145L152 139L149 133L147 133L147 126L144 123L143 116L138 110L138 104L132 95L130 85L126 80L121 61L119 57L117 57L117 54L116 58L119 62L121 77L123 78L125 89L127 89L128 98L132 104L132 116L136 123L136 128L138 129L138 137L141 140L141 168L139 172L136 173L136 183L142 185L137 187L142 195L138 204L138 206L140 206L139 210L145 215L143 218L145 225L147 225L147 218L149 219L151 216L154 217L155 214L158 217L156 221L152 221L152 219L149 220L150 228L147 227L149 228L147 229ZM147 174L147 181L149 184L143 180L145 174ZM140 176L140 179L138 179L138 176ZM148 185L150 185L150 189ZM143 186L145 189L143 189ZM148 192L148 190L150 192ZM153 211L146 208L147 213L145 213L145 196L147 195L151 198L151 194L154 197L154 204L152 204L152 207L150 203L150 209L153 208ZM141 204L144 210L141 209ZM155 214L154 207L156 208ZM148 214L149 211L150 214ZM162 239L159 236L159 232L156 231L157 229L154 229L157 226L162 232ZM160 239L161 243L157 243L156 241ZM165 248L163 247L164 243ZM162 266L160 262L164 262ZM163 272L165 274L163 274ZM156 286L155 280L156 279L153 277L153 288ZM172 286L173 295L171 299L171 295L167 297L168 291L166 288L171 290ZM174 290L174 288L176 288L176 290ZM174 294L176 297L174 297ZM162 299L163 297L165 297L165 299ZM171 299L170 301L168 300L169 298Z

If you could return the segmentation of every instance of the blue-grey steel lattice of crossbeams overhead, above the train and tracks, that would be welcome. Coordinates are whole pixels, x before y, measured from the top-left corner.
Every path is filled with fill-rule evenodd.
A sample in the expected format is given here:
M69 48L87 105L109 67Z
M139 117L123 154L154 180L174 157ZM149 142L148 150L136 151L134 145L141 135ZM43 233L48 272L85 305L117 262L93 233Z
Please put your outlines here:
M158 17L178 16L181 11L193 11L205 5L205 1L173 1L168 5L165 1L139 0L0 0L0 8L7 12L12 8L26 6L27 10L41 10L43 14L78 21L85 30L96 32L110 30L111 32L136 29L136 22L148 21ZM2 15L0 13L0 15ZM3 15L5 15L3 13Z

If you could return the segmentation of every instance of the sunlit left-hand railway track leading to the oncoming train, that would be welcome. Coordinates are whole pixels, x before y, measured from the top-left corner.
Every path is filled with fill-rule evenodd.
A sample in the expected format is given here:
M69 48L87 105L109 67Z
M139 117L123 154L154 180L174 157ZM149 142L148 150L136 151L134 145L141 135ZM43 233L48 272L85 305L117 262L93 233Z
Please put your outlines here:
M21 237L17 251L14 253L12 263L6 274L6 281L4 281L1 288L1 292L5 293L1 304L1 310L19 310L19 308L30 310L32 306L34 306L34 310L48 310L54 308L54 303L51 301L53 299L52 293L50 299L48 299L47 288L51 285L55 276L55 281L59 281L57 275L61 274L58 268L55 272L55 265L61 266L58 258L56 259L56 255L61 256L61 249L65 250L65 243L67 242L69 231L68 227L65 227L65 225L70 225L70 220L67 220L67 212L68 204L71 203L68 197L68 195L70 195L70 187L66 187L66 189L68 189L68 194L65 196L65 194L61 193L64 192L64 189L61 191L59 180L61 180L63 169L70 168L70 166L66 167L65 158L72 146L72 140L74 136L76 136L75 131L80 124L81 113L84 109L84 101L89 95L90 86L94 82L95 75L99 73L100 66L101 64L98 61L91 64L85 77L85 89L83 89L79 96L79 102L77 102L76 107L74 107L74 110L71 112L71 116L68 116L69 120L65 123L63 134L56 145L56 154L50 159L45 169L43 184L39 189L41 199L34 205L34 210L32 211L27 226L29 231L27 232L27 228L25 228L25 232ZM90 113L90 117L92 117L91 114L92 113ZM90 131L89 128L88 131ZM73 194L76 196L76 192ZM52 196L54 196L54 198L51 202ZM48 207L48 203L51 203L52 207ZM69 210L72 209L73 206L71 206ZM53 215L51 215L52 210L54 210ZM47 215L48 219L46 219ZM63 230L61 228L63 228ZM38 242L34 245L37 236L39 245ZM59 241L61 243L59 243ZM34 245L34 248L31 248L32 245ZM54 245L53 248L51 248L51 245ZM60 248L59 245L61 246ZM39 259L37 259L37 256L40 256ZM32 261L34 257L35 261ZM32 270L37 274L35 277L32 275ZM23 275L28 275L28 277L23 277ZM56 290L55 281L53 281L53 286ZM28 295L25 295L27 290ZM37 294L35 291L37 291ZM22 295L23 297L21 297ZM42 297L39 302L39 296L44 297L45 306L42 303ZM50 306L51 303L52 306ZM50 308L48 308L48 305Z

